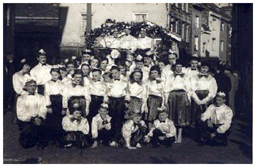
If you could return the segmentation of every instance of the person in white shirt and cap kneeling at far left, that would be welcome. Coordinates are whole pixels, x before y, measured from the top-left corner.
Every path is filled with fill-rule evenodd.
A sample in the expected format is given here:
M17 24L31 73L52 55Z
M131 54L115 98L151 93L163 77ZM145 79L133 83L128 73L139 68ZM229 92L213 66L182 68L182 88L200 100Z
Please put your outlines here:
M19 143L23 148L37 145L38 150L43 150L48 143L45 98L35 92L36 81L32 79L27 80L25 89L27 92L17 99L17 124L21 131Z

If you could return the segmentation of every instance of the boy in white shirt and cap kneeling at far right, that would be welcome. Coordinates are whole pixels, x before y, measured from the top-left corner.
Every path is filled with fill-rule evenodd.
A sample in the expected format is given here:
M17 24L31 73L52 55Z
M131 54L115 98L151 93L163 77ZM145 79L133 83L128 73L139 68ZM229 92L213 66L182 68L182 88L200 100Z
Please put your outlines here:
M233 112L225 104L225 101L226 94L219 92L216 95L216 103L211 104L201 115L199 146L208 144L209 142L223 147L228 145L228 135L231 132L230 126Z

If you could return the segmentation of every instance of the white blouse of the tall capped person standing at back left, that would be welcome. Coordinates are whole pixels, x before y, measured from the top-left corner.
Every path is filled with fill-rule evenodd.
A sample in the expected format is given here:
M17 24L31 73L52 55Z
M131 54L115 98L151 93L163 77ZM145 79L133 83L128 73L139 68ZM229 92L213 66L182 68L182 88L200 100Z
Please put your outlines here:
M38 63L33 69L30 71L30 75L35 79L37 85L44 85L47 81L52 79L50 74L52 66L44 65Z

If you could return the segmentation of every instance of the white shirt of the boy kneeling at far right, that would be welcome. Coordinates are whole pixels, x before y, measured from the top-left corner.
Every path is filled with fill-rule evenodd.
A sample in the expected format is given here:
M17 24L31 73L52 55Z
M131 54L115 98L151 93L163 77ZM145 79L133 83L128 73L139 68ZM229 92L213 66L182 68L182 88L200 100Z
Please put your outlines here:
M206 111L201 115L201 120L204 122L210 119L213 124L222 124L218 129L218 133L225 133L231 125L233 118L232 109L226 104L221 106L216 106L215 104L210 104Z

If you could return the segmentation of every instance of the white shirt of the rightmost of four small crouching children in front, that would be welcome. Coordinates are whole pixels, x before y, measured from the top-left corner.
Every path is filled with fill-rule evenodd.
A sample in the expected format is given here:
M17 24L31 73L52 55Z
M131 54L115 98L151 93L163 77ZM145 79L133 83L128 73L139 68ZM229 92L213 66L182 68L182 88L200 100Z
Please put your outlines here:
M147 136L152 137L155 129L160 130L167 138L174 137L176 135L176 128L174 122L166 118L165 122L160 122L158 119L154 121L152 128L150 129Z

